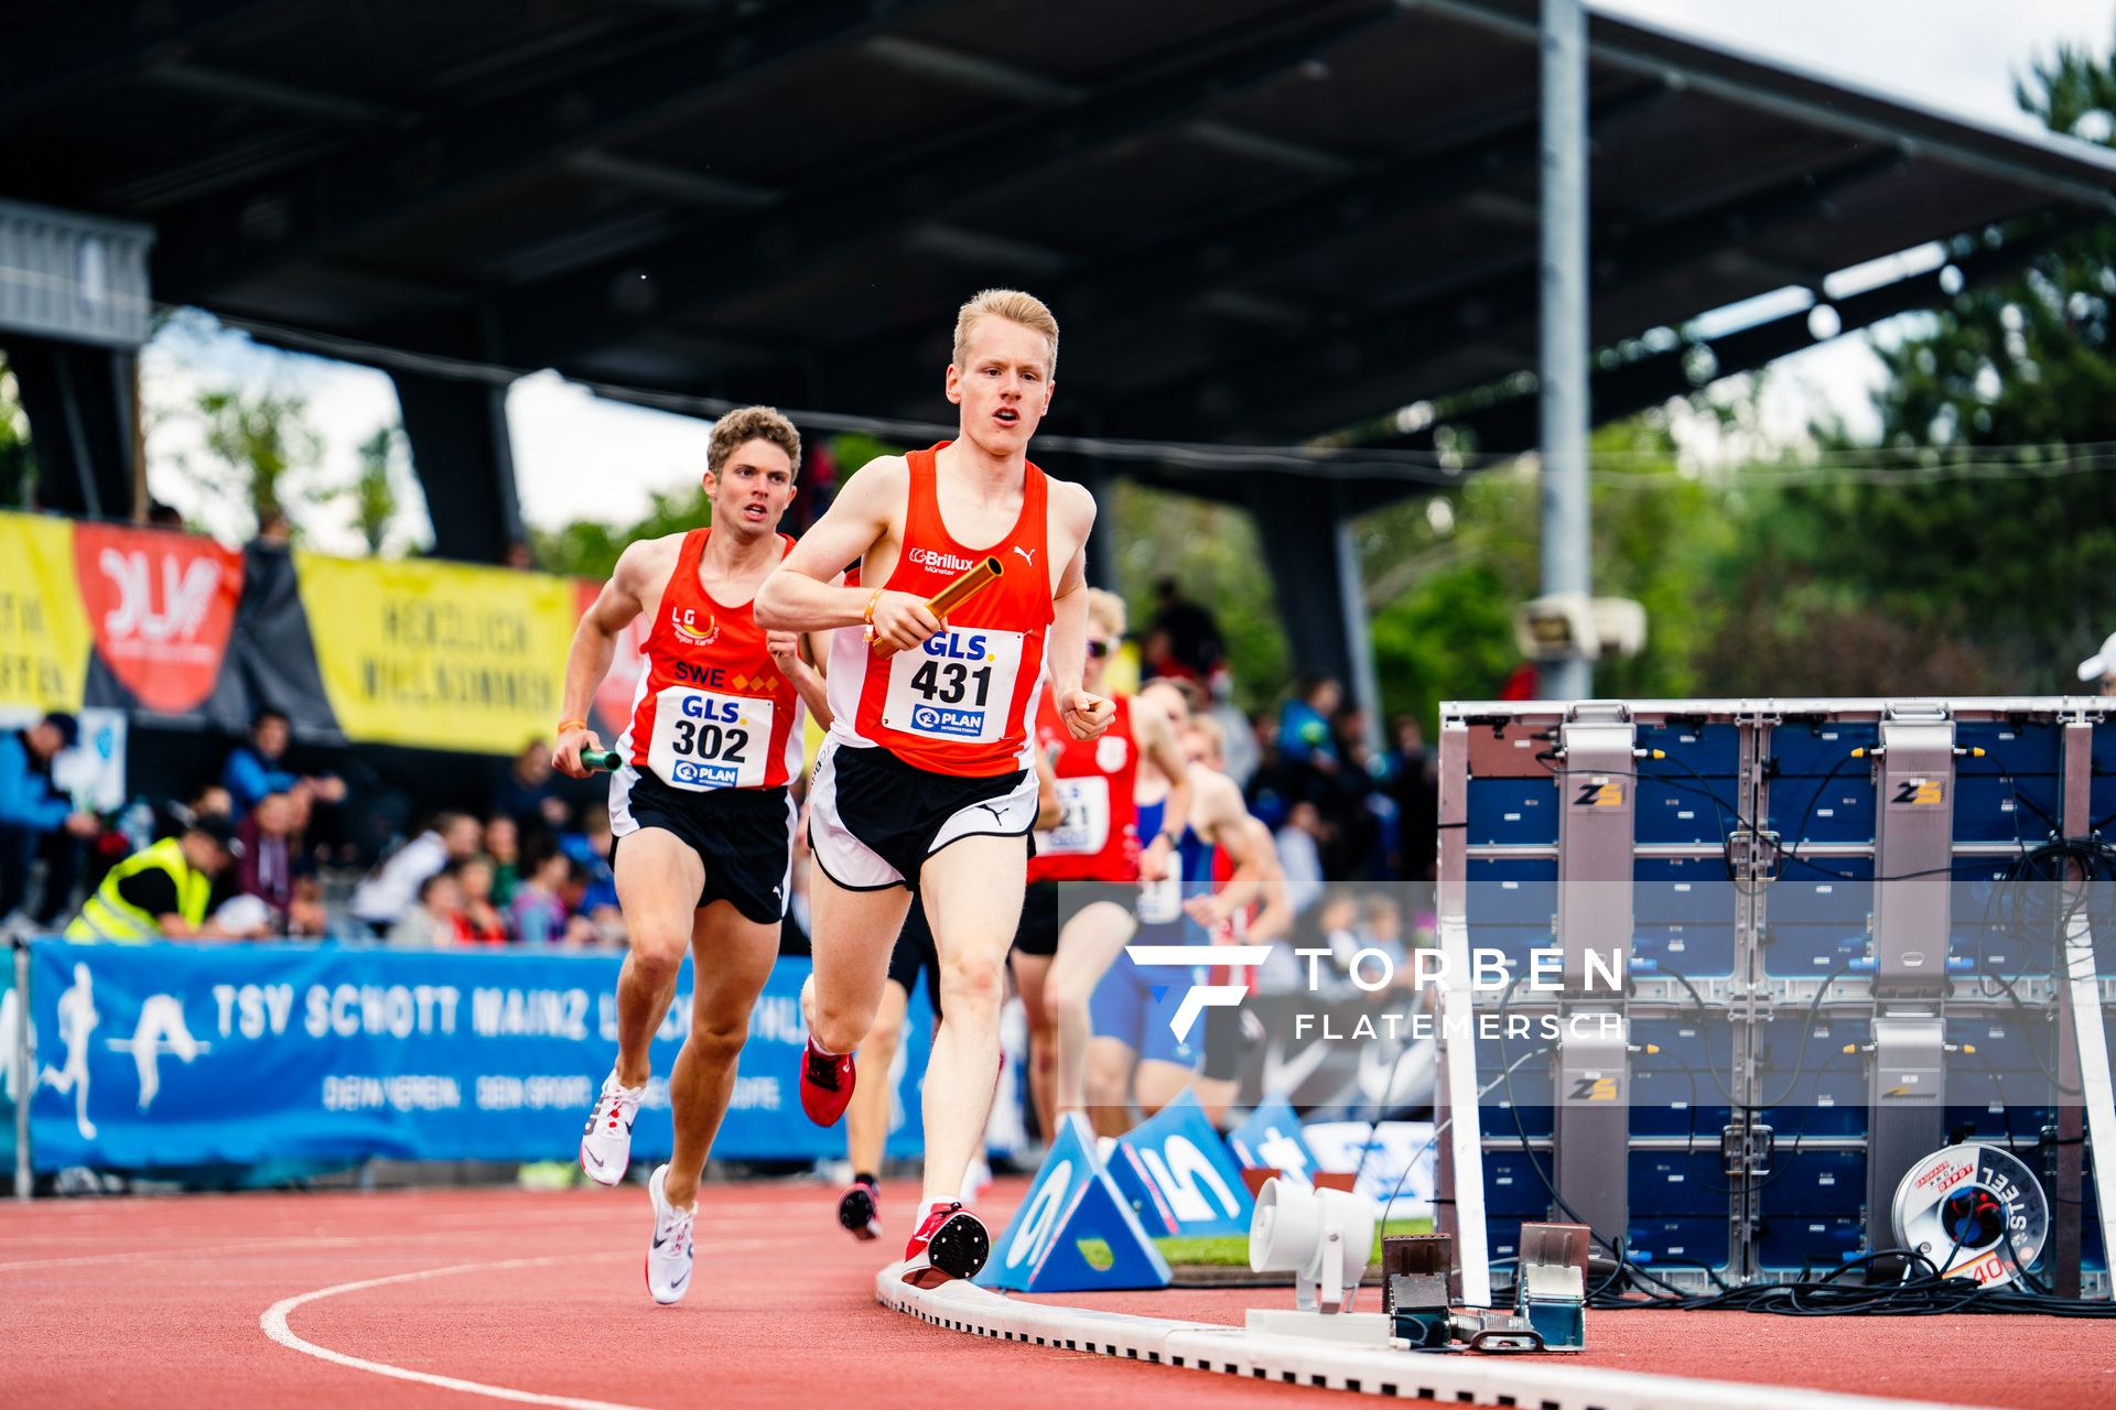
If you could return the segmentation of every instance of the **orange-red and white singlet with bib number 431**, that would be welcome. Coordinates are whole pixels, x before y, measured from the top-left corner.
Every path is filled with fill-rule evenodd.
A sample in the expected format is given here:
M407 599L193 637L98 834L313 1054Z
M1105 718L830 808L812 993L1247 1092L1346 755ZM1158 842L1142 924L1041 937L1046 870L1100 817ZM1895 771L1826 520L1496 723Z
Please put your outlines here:
M1028 715L1052 624L1050 482L1028 465L1022 516L1007 537L965 548L940 516L933 457L946 444L904 457L912 480L904 552L882 586L931 598L986 556L999 558L1001 577L910 651L884 657L855 628L832 632L832 729L844 744L878 744L929 774L995 778L1030 759Z

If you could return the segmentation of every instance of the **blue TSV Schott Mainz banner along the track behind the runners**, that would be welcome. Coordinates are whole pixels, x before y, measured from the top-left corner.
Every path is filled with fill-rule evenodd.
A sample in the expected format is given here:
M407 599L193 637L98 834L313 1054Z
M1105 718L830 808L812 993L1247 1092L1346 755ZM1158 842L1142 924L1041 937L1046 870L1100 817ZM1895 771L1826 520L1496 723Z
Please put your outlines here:
M616 1057L618 956L351 945L32 947L38 1171L290 1161L571 1161ZM796 1091L806 960L781 960L749 1019L724 1161L844 1154ZM654 1038L633 1163L667 1158L669 1070L692 966ZM912 998L891 1070L891 1154L918 1154L933 1032Z

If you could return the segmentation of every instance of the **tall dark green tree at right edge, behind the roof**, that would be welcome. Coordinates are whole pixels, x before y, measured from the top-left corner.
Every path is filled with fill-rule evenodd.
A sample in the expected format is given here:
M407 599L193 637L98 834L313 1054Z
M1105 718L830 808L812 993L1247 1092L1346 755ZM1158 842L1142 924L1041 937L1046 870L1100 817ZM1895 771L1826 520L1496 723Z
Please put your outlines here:
M2059 49L2019 101L2057 133L2108 144L2116 61ZM2116 226L2053 235L2023 220L1983 239L2036 254L1879 347L1881 446L1824 433L1824 459L1858 478L1788 495L1786 537L1767 548L1813 619L1873 647L1852 613L1875 613L1921 645L1902 655L1928 681L1934 657L1962 672L1940 689L2072 689L2069 664L2116 626L2116 478L2103 469Z

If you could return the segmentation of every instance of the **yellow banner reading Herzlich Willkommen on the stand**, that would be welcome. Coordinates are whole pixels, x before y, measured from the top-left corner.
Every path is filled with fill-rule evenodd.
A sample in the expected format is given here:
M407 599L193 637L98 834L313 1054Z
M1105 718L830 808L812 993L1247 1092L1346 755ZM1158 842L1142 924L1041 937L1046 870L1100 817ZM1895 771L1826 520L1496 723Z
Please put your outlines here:
M559 723L571 579L300 552L294 567L347 740L512 755Z

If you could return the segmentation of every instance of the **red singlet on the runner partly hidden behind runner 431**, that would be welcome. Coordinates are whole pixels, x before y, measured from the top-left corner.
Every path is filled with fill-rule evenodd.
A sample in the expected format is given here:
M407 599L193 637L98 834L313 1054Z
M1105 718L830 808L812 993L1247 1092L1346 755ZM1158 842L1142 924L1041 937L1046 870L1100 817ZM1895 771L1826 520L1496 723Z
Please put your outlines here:
M1037 833L1028 858L1030 882L1136 882L1138 879L1138 742L1132 702L1111 700L1115 717L1094 740L1075 740L1058 717L1047 689L1037 691L1037 748L1058 748L1058 827Z

